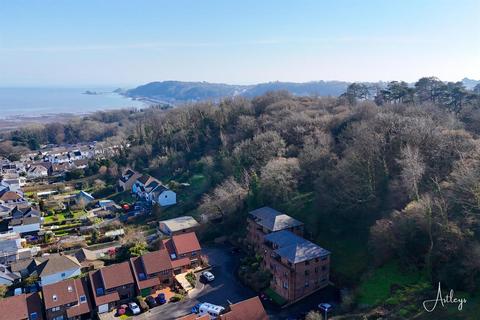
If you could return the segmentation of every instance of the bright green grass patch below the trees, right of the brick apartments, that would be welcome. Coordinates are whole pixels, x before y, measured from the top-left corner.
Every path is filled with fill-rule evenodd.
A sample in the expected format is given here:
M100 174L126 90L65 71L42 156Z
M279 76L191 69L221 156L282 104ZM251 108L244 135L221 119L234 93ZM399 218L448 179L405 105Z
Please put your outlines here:
M422 272L405 271L396 262L389 262L375 269L358 288L358 302L364 305L378 305L392 296L392 285L408 286L425 282Z

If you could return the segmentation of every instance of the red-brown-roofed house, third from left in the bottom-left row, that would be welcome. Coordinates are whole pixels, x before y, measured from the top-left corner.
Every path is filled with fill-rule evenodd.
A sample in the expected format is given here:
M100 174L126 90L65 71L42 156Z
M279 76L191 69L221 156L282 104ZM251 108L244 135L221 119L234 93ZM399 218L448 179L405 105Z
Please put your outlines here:
M97 313L109 312L136 296L135 279L128 261L90 272L89 279Z

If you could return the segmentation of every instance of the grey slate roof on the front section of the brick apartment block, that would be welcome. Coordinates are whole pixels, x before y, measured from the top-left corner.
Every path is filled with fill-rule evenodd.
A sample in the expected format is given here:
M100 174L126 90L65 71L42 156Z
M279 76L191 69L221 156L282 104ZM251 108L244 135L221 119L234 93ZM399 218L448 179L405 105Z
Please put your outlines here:
M270 233L264 239L275 244L276 254L294 264L330 254L330 251L287 230Z

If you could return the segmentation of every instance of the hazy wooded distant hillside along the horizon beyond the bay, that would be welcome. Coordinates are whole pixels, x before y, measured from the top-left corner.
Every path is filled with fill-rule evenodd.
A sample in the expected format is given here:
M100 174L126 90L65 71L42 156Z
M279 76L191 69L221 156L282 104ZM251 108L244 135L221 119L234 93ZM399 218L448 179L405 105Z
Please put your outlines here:
M267 91L287 90L294 95L339 96L349 83L342 81L315 81L306 83L269 82L257 85L230 85L208 82L162 81L150 82L124 92L125 95L157 102L179 103L219 100L241 95L254 97Z

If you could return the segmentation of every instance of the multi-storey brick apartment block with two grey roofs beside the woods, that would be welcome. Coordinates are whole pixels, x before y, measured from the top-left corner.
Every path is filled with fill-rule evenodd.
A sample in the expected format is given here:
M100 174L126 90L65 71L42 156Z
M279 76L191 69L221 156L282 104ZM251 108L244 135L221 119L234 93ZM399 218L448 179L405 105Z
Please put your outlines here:
M328 285L330 252L301 237L303 223L264 207L251 211L247 240L272 273L271 288L289 303Z

